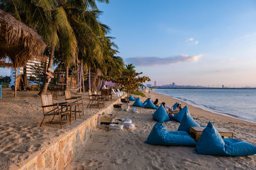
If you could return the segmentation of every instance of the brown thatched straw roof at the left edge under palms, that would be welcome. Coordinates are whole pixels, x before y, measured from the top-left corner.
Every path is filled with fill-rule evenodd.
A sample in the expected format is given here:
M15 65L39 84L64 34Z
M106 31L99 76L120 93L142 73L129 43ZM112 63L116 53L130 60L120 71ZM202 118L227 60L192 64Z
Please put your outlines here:
M45 47L33 29L0 10L0 60L8 57L13 67L24 66L28 60L41 57Z

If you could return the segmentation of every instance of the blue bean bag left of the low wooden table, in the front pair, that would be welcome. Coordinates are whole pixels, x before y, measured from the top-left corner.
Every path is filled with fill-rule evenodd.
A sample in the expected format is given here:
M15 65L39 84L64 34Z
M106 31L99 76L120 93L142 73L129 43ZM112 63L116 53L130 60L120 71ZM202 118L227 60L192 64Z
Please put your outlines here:
M195 146L196 142L185 131L168 132L163 122L157 122L145 143L167 146Z

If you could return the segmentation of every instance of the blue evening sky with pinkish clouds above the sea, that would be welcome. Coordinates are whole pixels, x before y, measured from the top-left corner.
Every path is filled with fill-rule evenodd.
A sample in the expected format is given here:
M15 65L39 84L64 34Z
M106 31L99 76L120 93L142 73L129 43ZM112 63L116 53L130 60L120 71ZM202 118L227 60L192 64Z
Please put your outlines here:
M256 87L256 1L98 3L118 55L157 85Z

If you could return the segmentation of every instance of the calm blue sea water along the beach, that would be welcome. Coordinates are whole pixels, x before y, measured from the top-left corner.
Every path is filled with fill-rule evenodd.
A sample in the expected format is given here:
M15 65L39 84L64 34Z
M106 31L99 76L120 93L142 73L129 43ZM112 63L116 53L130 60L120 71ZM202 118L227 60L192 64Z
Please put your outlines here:
M256 89L155 89L203 110L256 122Z

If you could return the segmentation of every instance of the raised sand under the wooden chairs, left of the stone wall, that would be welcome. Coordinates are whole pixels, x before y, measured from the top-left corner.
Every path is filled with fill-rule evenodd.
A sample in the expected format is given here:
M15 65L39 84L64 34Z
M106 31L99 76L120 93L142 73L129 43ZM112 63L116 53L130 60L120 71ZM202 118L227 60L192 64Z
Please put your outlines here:
M3 90L3 99L0 99L0 169L8 169L11 164L20 164L32 159L35 155L44 152L61 136L65 136L72 129L79 127L84 121L99 111L99 108L88 108L88 93L72 93L72 96L83 96L84 115L63 125L44 124L40 127L43 118L42 104L38 92L17 92L13 97L13 90ZM54 97L54 103L65 101L64 96ZM113 101L117 97L113 96ZM107 106L112 101L107 102ZM49 118L47 118L49 119ZM64 118L64 122L65 118ZM15 168L14 168L15 169Z

